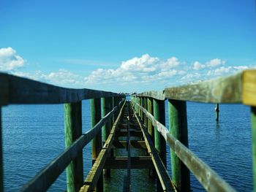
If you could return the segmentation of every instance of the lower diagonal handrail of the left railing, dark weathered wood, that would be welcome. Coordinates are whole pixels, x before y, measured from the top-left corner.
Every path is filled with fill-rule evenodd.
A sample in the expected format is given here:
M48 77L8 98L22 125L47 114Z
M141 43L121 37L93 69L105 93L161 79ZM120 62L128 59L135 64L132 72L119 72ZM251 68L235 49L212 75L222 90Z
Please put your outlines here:
M124 100L119 103L119 106L121 106L123 102ZM67 150L50 162L50 164L42 169L29 183L26 183L20 191L46 191L57 177L59 177L61 172L64 171L70 161L77 157L80 150L82 150L83 147L97 135L102 126L110 120L116 110L117 107L114 107L114 109L102 118L93 129L82 134Z

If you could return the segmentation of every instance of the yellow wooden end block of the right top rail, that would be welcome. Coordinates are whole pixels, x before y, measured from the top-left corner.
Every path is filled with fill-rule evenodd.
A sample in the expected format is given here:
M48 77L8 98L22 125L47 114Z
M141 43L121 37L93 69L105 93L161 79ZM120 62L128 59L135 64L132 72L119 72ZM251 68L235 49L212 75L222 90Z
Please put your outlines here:
M256 70L243 73L243 103L256 106Z

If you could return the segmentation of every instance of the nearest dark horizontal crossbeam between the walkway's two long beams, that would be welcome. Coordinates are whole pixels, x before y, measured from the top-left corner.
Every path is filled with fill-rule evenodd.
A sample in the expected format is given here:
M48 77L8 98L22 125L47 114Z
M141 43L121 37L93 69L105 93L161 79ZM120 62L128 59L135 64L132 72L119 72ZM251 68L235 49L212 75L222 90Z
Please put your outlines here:
M150 156L131 157L130 169L152 169L154 164ZM107 158L104 169L127 169L127 156Z

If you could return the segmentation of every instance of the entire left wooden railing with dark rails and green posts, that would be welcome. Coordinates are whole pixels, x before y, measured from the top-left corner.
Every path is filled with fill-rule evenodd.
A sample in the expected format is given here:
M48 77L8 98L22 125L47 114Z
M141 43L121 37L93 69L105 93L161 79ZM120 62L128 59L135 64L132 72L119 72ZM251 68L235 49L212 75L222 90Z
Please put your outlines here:
M91 89L61 88L10 74L0 73L0 191L4 191L1 135L1 106L8 104L64 104L66 150L42 169L20 191L46 191L67 167L68 191L83 185L82 149L92 140L92 158L101 150L101 138L108 138L124 94ZM83 99L91 99L91 130L82 134ZM101 108L103 109L101 118ZM102 129L103 126L103 129ZM100 138L100 140L99 140ZM72 161L72 164L70 162Z

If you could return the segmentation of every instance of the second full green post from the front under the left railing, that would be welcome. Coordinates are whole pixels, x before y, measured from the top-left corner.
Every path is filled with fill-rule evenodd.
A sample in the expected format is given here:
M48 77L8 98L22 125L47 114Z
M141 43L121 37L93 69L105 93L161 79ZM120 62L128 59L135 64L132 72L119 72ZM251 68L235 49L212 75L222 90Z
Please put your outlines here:
M91 128L93 128L101 119L101 104L100 98L91 99ZM102 131L92 139L91 142L91 158L92 164L96 161L100 150L102 149ZM103 177L102 174L99 176L96 191L103 191Z

